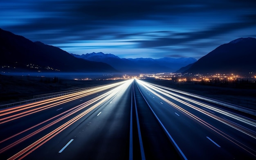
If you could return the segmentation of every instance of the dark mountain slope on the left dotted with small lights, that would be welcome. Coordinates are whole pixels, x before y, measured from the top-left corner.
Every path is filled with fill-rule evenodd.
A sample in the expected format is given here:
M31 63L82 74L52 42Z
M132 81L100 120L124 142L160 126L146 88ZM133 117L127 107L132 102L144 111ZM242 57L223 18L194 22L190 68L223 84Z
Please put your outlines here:
M61 72L116 72L112 66L76 58L60 48L32 42L0 28L1 70Z

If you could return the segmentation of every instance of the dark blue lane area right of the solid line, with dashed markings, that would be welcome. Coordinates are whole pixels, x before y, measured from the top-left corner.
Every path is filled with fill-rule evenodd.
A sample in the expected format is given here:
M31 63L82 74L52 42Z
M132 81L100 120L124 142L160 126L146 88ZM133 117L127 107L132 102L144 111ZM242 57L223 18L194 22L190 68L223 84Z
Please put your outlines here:
M136 80L136 82L138 81ZM234 126L227 125L209 116L209 113L205 114L201 110L188 107L188 104L181 103L180 100L166 98L160 91L156 93L155 90L153 91L150 88L150 85L145 83L140 83L140 85L143 86L141 90L145 89L144 96L152 104L154 111L159 115L168 131L177 140L177 144L181 145L181 149L188 159L209 159L209 157L211 159L255 158L255 134L240 132ZM163 99L166 104L159 104L159 99L157 101L152 100L152 96L148 94L149 92L150 95L153 94L154 97L158 96ZM173 115L172 113L179 114L179 118L182 119L178 119L177 115L171 116ZM255 125L253 121L250 123ZM222 144L220 145L223 146L221 150L209 147L211 146L209 143L212 142L206 137L216 139L214 140L215 142Z

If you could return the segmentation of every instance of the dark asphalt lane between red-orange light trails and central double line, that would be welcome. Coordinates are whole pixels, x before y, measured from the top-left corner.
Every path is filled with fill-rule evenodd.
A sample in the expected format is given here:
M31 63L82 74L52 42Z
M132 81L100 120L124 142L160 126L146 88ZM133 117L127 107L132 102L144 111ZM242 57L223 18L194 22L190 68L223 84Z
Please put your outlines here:
M39 159L128 159L130 93L131 85L119 90L92 114L81 118L25 159L33 159L43 151L46 154ZM58 153L70 139L74 140Z

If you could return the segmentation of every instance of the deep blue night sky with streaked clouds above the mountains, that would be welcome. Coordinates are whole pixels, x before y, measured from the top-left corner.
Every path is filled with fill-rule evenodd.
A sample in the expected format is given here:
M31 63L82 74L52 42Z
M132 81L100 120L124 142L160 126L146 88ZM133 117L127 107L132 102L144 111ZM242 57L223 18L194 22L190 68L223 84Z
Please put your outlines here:
M256 37L256 0L1 0L0 28L79 55L199 59Z

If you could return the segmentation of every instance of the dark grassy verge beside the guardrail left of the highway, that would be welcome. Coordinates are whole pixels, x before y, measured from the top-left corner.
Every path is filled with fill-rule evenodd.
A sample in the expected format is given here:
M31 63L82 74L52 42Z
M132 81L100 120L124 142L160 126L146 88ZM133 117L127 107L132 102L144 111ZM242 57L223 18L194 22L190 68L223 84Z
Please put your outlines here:
M114 82L117 81L76 81L58 79L58 77L0 75L0 105L33 99L33 96L39 94L75 90Z

